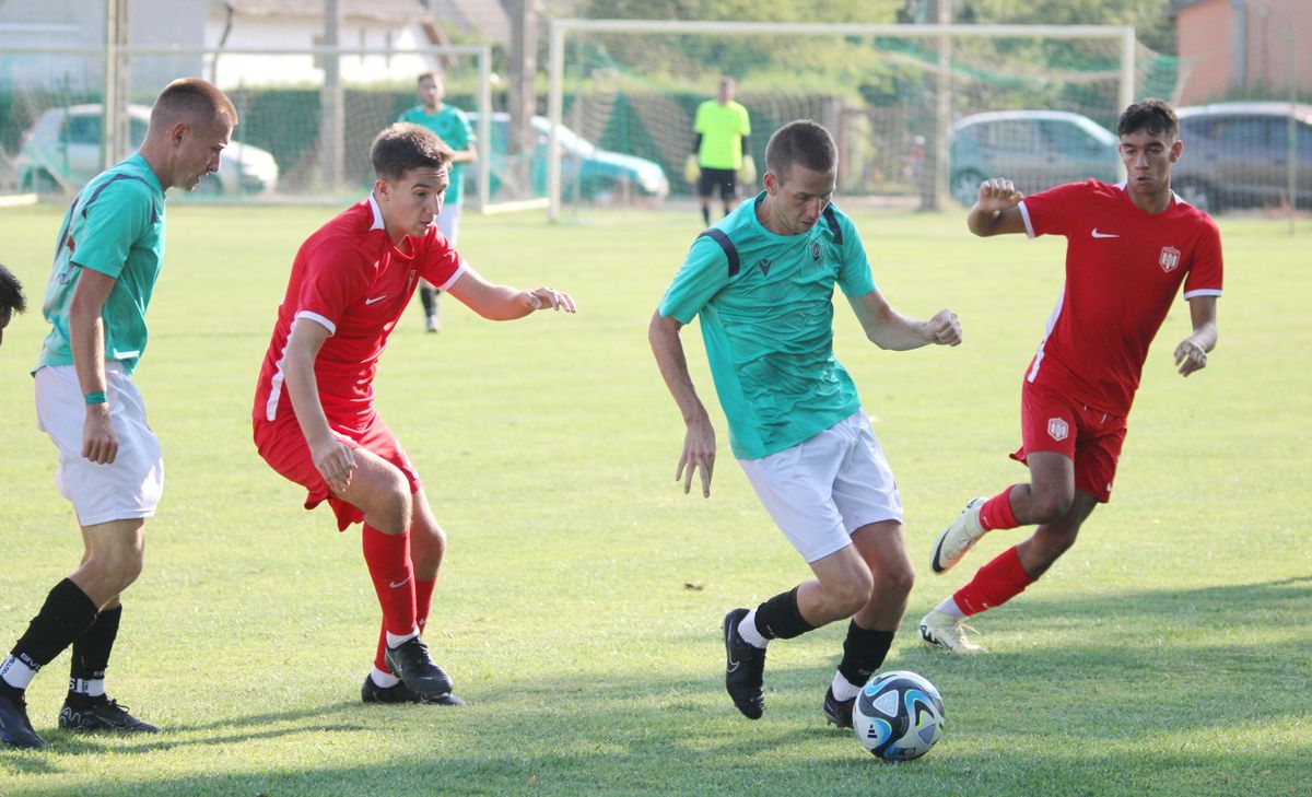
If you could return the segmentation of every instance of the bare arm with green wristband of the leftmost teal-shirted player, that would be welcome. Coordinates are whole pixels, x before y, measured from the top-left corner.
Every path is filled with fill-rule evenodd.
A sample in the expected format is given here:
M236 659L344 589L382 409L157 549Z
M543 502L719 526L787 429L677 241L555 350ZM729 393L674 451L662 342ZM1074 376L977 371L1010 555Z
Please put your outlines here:
M118 281L108 274L81 267L68 308L68 346L77 371L77 384L87 397L105 395L105 322L100 313L115 282ZM106 401L87 405L83 456L101 465L108 465L118 456L118 435L109 422Z

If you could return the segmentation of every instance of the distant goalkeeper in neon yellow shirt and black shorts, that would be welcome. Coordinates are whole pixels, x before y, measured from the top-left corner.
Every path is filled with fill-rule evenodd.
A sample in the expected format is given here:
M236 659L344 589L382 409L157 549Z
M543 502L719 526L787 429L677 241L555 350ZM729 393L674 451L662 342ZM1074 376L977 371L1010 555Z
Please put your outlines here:
M724 215L737 206L737 184L756 182L756 164L748 152L752 121L747 109L733 101L733 80L720 80L715 100L697 106L693 123L693 152L684 166L684 177L697 184L702 201L702 220L711 225L711 197L719 187Z

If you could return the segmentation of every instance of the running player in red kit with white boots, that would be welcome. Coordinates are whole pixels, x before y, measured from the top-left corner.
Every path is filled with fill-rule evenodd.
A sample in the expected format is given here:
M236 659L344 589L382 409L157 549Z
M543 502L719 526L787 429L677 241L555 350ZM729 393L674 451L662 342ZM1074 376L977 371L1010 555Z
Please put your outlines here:
M1148 345L1181 284L1193 332L1176 347L1176 364L1182 376L1207 366L1221 243L1215 222L1170 190L1183 149L1177 131L1169 105L1144 100L1118 125L1126 184L1090 180L1030 198L1009 180L980 185L971 232L1065 236L1067 282L1021 391L1022 446L1012 456L1030 467L1030 482L967 503L939 535L930 566L946 572L994 528L1038 528L925 615L920 632L930 645L979 650L963 620L1034 583L1107 502Z

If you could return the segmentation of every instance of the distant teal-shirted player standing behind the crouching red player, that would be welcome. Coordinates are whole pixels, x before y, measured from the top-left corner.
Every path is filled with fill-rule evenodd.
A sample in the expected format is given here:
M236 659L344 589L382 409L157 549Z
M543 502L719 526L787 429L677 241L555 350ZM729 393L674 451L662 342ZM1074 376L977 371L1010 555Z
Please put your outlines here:
M446 105L446 84L437 72L424 72L416 87L420 104L407 110L398 122L422 125L451 148L451 174L442 199L442 212L437 214L437 228L453 246L458 244L461 232L461 203L464 202L464 164L474 163L479 153L474 146L474 128L464 111L454 105ZM442 328L440 291L428 281L419 284L419 299L424 305L424 329L438 332Z

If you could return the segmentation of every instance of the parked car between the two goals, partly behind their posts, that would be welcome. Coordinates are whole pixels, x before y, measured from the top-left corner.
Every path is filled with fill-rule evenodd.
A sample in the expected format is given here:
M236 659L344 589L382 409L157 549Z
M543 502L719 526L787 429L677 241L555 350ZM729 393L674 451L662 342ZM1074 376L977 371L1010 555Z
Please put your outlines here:
M551 122L546 117L533 117L534 143L527 172L531 186L521 185L514 190L510 189L510 185L516 181L516 176L506 155L509 122L510 114L506 113L493 113L489 119L492 160L488 164L491 172L488 193L492 199L496 199L499 193L513 194L514 198L544 197L547 193L547 138L551 135ZM478 132L478 113L470 114L470 125ZM669 178L665 177L665 170L660 164L632 155L601 149L564 125L559 127L559 138L562 195L565 199L577 195L583 199L615 202L661 201L669 194ZM488 148L479 144L479 152L487 153ZM474 169L466 170L466 181L474 180L472 172ZM474 186L467 182L466 190L474 190Z

